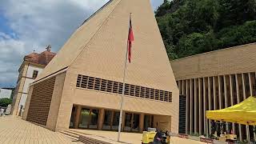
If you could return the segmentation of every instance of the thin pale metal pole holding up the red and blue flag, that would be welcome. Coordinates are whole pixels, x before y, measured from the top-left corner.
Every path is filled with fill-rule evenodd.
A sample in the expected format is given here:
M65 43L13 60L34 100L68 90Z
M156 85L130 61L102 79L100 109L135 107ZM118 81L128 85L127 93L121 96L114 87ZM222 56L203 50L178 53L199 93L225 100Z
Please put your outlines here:
M131 15L131 13L130 13L130 15ZM125 86L126 86L127 62L128 62L128 42L127 42L127 46L126 46L125 66L124 66L124 70L123 70L123 79L122 79L122 98L121 98L119 125L118 125L118 142L120 142L120 134L121 134L121 126L122 126L122 107L123 107L123 103L124 103L123 97L125 94Z

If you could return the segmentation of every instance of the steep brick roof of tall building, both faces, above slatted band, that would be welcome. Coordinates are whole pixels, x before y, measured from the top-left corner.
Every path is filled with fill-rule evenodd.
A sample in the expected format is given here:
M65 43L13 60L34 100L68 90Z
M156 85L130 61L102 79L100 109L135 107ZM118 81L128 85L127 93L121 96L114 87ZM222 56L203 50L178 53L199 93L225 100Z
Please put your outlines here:
M134 29L126 82L178 90L150 0L113 0L66 42L38 79L66 66L75 73L122 82L130 13Z

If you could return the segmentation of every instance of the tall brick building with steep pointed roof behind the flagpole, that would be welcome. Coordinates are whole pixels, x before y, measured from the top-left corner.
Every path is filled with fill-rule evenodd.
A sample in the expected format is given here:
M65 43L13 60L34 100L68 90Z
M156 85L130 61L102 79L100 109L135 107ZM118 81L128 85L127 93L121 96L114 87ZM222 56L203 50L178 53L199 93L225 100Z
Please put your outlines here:
M150 0L110 0L83 22L30 86L23 118L50 130L118 130L130 13L122 130L178 133L178 87Z

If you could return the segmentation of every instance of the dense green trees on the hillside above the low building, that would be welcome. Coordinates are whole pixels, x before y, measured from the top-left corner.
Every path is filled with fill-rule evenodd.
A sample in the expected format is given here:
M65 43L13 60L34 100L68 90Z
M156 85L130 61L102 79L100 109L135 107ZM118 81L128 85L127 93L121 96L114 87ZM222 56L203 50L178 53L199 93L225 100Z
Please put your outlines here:
M256 42L256 0L164 0L155 15L171 59Z

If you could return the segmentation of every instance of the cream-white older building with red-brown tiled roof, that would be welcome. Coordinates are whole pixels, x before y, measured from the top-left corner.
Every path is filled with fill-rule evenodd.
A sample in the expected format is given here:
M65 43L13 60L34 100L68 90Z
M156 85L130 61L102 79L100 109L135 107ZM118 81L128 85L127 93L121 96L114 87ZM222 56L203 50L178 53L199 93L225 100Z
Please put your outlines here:
M54 58L55 53L51 52L50 48L50 46L47 46L46 51L43 51L41 54L32 53L24 57L24 61L18 69L19 75L12 103L12 114L18 115L21 106L24 108L30 83L34 82L38 74Z

